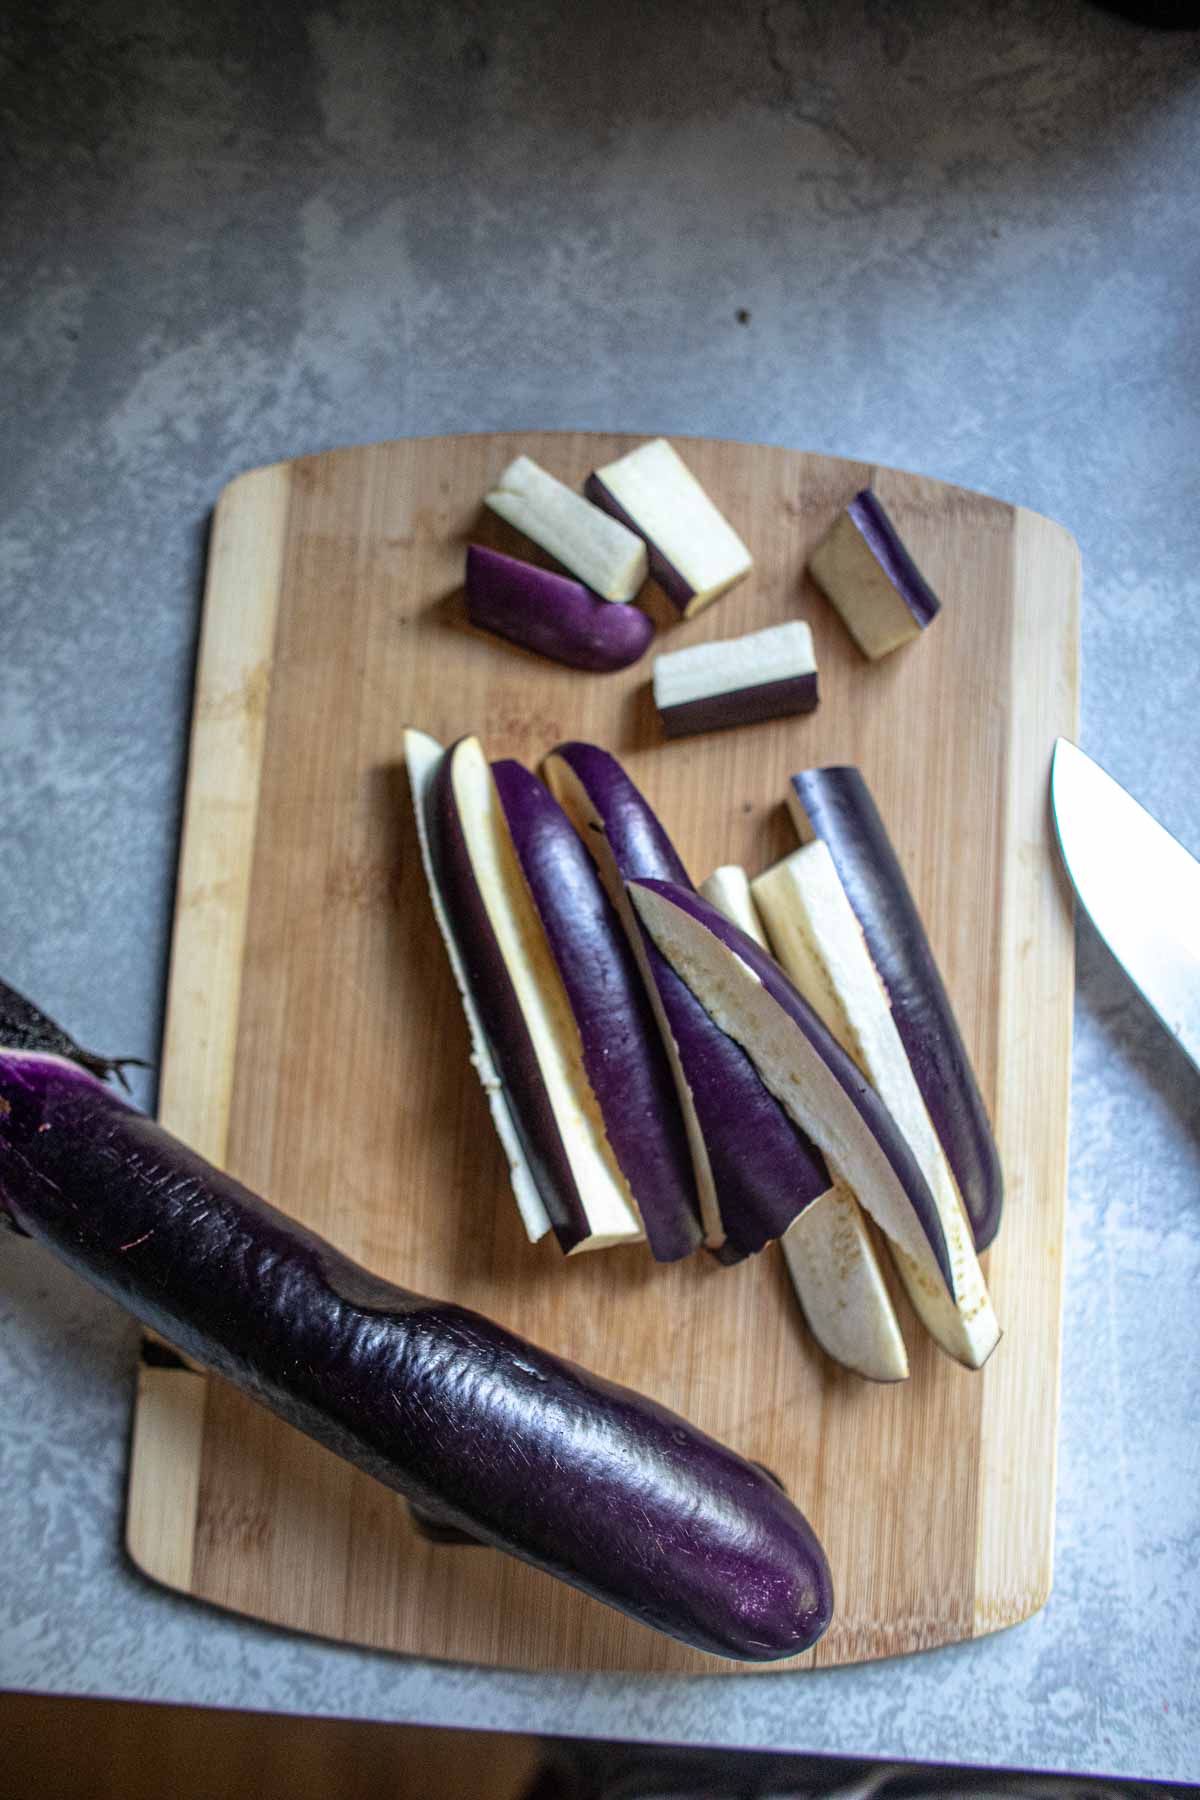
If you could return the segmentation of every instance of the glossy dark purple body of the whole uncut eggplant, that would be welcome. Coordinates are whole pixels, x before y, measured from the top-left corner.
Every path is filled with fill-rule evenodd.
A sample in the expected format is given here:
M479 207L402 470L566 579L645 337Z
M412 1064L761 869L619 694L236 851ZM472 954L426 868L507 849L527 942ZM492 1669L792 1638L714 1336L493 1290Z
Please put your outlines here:
M0 1219L423 1516L644 1625L770 1661L829 1622L811 1526L741 1456L358 1267L63 1057L0 1049Z

